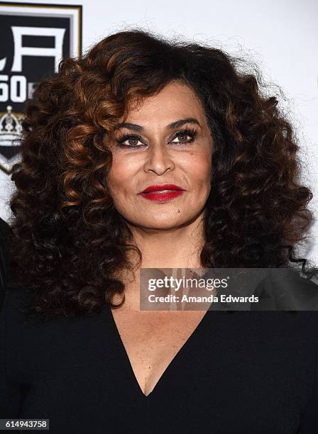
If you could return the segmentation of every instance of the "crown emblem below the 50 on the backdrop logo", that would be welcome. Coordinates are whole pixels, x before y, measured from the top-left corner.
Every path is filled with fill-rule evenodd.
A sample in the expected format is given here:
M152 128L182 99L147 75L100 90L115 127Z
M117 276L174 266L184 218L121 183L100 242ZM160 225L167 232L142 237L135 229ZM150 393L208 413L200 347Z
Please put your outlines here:
M13 113L12 106L0 113L0 168L10 174L16 156L20 152L22 113Z

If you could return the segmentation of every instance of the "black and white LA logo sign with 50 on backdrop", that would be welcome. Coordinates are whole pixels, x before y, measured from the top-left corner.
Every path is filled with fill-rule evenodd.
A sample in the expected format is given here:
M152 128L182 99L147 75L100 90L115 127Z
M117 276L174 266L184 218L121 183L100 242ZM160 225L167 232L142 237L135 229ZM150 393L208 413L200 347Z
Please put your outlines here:
M23 106L66 56L82 54L82 6L0 2L0 169L18 160Z

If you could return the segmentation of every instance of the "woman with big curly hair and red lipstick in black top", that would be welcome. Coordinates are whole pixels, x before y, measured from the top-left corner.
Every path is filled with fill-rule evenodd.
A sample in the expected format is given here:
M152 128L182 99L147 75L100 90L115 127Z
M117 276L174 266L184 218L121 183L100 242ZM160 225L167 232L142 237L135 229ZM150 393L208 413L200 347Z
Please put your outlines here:
M123 31L62 60L23 131L1 418L317 433L316 312L140 310L141 267L305 265L312 192L256 76L221 50Z

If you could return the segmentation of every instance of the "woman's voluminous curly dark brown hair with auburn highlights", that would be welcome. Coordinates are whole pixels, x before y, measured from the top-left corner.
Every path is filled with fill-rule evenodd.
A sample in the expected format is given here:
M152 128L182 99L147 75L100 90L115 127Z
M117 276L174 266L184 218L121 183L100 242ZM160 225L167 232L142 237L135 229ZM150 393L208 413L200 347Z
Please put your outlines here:
M313 195L298 180L298 139L258 68L244 65L219 48L137 29L63 59L40 81L26 104L11 197L12 265L35 291L34 312L92 314L124 294L116 272L132 267L129 249L141 252L106 189L107 135L130 101L172 80L199 96L214 140L202 267L302 262L305 271L295 247L312 223Z

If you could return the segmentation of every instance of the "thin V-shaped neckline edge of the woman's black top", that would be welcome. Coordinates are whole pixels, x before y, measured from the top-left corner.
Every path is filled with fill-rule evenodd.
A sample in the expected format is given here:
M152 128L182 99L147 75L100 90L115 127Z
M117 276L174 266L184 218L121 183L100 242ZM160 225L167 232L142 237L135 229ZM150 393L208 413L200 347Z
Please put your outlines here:
M164 382L165 378L168 377L168 374L171 371L172 367L180 360L180 358L182 356L185 355L185 352L190 347L190 345L193 342L194 338L196 338L196 336L199 334L199 331L202 329L205 321L207 321L207 317L209 316L209 309L208 309L204 313L204 316L202 316L202 318L199 321L199 323L197 324L197 327L194 328L194 330L192 331L192 333L189 336L189 338L187 338L187 340L185 341L185 343L182 344L182 346L180 347L180 349L177 352L177 354L175 355L175 357L172 358L172 360L170 361L169 365L165 368L165 370L163 371L163 373L160 375L160 377L158 379L158 382L156 382L155 386L153 387L153 390L150 391L150 393L148 395L146 395L146 394L143 393L143 390L141 389L141 385L138 382L138 379L137 379L137 377L135 375L135 372L133 372L133 367L131 365L131 360L128 357L128 352L126 351L126 347L124 345L124 342L121 339L121 335L119 333L119 329L117 328L115 318L114 318L113 313L111 311L111 306L109 304L106 304L106 309L107 309L107 313L110 316L111 327L113 328L114 334L116 335L116 341L119 344L119 348L120 348L121 354L124 356L125 365L128 367L128 374L129 374L129 377L131 378L131 382L134 384L135 387L138 388L138 393L141 394L141 396L143 397L143 399L149 399L149 397L153 396L153 394L158 390L158 387L160 387L160 384L162 384Z

